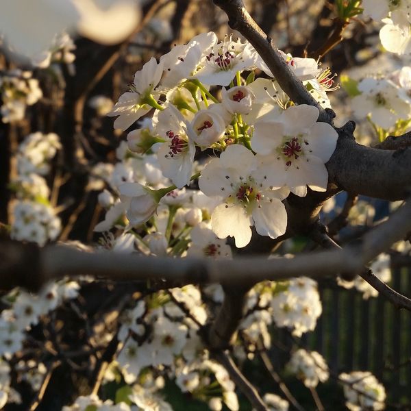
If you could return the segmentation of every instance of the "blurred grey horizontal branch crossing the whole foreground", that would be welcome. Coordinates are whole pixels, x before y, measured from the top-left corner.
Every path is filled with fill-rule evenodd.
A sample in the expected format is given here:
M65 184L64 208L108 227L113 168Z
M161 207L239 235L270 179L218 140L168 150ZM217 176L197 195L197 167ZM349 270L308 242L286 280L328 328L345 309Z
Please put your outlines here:
M237 286L300 275L320 278L341 271L360 272L365 264L394 242L405 238L410 231L411 201L408 201L388 221L365 234L359 244L301 254L295 258L172 259L109 251L85 253L53 245L39 249L20 242L4 242L0 247L0 286L3 289L23 286L35 290L51 279L87 274L117 281L150 278L169 279L182 284L221 283Z

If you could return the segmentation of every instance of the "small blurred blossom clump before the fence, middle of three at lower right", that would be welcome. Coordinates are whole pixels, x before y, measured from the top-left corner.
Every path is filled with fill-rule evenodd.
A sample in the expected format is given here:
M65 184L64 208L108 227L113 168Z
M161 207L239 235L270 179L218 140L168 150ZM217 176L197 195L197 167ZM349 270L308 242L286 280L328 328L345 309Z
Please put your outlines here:
M319 382L326 382L329 377L327 363L316 351L298 349L292 354L287 368L308 388L315 388Z

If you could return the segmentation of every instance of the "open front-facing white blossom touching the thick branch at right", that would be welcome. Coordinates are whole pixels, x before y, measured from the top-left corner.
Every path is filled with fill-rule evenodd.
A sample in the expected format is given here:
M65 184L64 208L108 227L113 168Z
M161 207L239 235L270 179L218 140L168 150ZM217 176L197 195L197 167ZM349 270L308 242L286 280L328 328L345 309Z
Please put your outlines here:
M338 134L327 123L317 123L318 108L301 104L285 110L270 121L264 116L254 125L251 147L271 155L267 179L271 186L287 186L304 197L307 186L325 191L328 172L325 163L336 148Z

